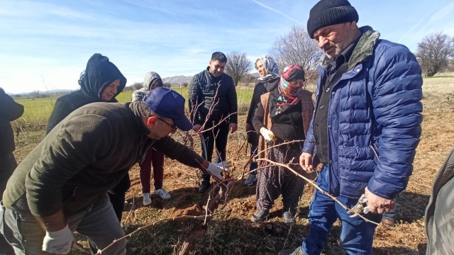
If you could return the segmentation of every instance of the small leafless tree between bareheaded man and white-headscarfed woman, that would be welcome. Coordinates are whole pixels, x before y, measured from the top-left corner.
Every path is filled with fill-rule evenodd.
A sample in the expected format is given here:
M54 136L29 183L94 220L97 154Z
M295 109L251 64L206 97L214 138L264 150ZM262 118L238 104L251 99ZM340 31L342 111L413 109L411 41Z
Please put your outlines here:
M235 86L253 69L253 62L248 60L248 55L243 52L230 52L227 54L226 73L233 78Z

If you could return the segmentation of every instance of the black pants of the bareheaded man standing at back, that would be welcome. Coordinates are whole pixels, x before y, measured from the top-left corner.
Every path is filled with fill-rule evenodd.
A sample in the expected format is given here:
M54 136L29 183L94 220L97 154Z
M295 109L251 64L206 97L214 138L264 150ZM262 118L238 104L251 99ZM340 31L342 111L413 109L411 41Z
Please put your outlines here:
M206 123L204 130L213 127L213 123ZM206 145L206 151L204 145L201 146L201 157L211 162L213 158L214 145L216 144L216 163L223 162L226 160L226 147L228 138L228 123L223 121L220 125L216 126L212 130L202 132L201 141ZM206 157L205 157L206 156ZM204 181L210 180L209 174L201 175Z

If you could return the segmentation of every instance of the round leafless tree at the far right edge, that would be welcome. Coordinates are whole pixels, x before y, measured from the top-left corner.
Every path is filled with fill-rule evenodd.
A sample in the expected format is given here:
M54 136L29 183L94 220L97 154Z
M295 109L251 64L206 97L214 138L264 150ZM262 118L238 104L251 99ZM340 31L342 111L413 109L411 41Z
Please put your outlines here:
M441 32L427 35L418 43L416 57L426 77L433 77L454 60L454 37Z

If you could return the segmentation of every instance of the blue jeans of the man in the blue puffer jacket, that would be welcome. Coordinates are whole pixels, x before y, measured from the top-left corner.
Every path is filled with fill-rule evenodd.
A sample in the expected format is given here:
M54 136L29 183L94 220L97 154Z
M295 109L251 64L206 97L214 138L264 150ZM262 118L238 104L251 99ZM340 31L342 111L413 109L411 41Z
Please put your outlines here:
M323 166L317 179L317 186L328 191L329 169ZM357 199L338 197L348 208L358 203ZM360 217L350 217L350 213L334 200L316 190L309 205L309 233L302 244L302 250L309 255L320 254L329 232L337 219L341 221L341 248L345 254L372 254L372 242L377 225L365 222ZM380 223L382 215L369 212L365 217Z

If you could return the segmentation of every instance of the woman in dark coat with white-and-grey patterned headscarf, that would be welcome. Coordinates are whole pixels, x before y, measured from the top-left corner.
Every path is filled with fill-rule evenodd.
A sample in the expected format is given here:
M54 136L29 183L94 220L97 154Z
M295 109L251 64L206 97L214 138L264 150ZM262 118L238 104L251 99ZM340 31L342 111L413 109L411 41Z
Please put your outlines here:
M263 55L255 60L255 69L257 69L260 77L255 82L253 98L250 101L250 107L248 112L248 118L246 118L246 132L248 132L248 143L250 143L250 157L254 157L257 154L258 147L258 133L255 132L252 126L252 120L254 117L255 109L257 108L258 102L260 102L260 96L267 92L273 91L279 84L279 70L277 64L272 57ZM251 162L249 166L250 175L244 182L246 185L253 185L257 181L256 174L258 164L257 162Z

